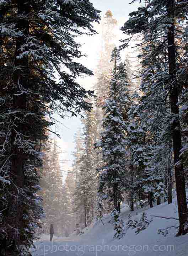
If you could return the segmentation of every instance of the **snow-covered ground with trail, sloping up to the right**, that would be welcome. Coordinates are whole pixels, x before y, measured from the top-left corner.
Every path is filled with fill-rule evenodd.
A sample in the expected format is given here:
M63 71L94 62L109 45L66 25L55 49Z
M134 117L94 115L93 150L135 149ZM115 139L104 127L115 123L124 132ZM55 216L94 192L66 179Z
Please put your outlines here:
M154 208L145 208L148 219L151 215L178 218L176 200L168 205L163 203ZM124 222L128 220L128 214L132 219L140 219L143 209L130 213L126 206L122 208L121 217ZM138 213L138 215L136 214ZM152 220L146 230L135 234L135 229L128 229L121 240L114 240L113 226L109 223L109 216L103 217L103 223L93 223L82 236L69 238L54 237L49 241L49 235L44 235L36 242L37 249L32 251L33 256L188 256L188 235L176 237L177 230L171 228L169 234L164 237L157 234L160 228L178 226L175 219L156 218Z

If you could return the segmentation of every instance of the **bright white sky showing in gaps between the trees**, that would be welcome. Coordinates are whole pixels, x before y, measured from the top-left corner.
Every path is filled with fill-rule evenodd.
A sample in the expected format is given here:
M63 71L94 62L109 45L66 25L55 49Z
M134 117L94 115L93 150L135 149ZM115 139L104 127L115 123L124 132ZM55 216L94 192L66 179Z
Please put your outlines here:
M123 38L123 34L120 32L119 28L122 27L125 21L128 20L128 15L131 11L135 11L139 6L137 4L130 5L131 0L90 0L93 2L93 6L101 10L101 16L103 16L107 10L111 10L114 18L118 21L118 39ZM95 25L96 26L96 25ZM100 30L100 26L96 26L97 30ZM97 57L100 50L100 35L95 36L84 36L80 39L82 44L82 53L87 55L87 58L82 58L80 63L85 65L87 68L95 71L97 64ZM117 41L117 45L119 42ZM79 83L84 86L86 89L92 89L92 86L95 82L95 77L79 79ZM71 152L74 151L74 134L78 128L81 127L81 122L79 117L61 119L56 117L62 124L57 123L57 131L61 136L61 139L58 139L57 144L66 151L61 155L62 160L68 160L64 164L65 172L71 168L72 164L72 155Z

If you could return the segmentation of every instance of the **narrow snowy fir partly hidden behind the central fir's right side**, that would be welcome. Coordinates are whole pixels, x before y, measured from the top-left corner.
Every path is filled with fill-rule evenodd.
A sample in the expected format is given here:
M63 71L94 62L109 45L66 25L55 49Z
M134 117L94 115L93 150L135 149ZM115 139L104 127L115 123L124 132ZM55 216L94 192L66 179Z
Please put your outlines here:
M119 81L119 93L123 94L124 97L119 98L119 108L123 115L124 122L126 123L126 138L127 138L127 152L128 156L126 166L127 166L127 177L129 179L129 188L127 188L126 193L130 194L130 208L131 210L134 210L134 196L137 191L137 194L139 197L141 196L141 189L140 189L140 181L139 178L141 177L141 169L138 168L138 159L135 159L135 155L139 158L139 164L143 164L144 162L144 155L145 152L141 152L141 145L143 142L143 139L139 140L138 134L141 138L143 138L144 130L141 129L141 126L139 123L137 123L137 128L135 127L135 112L136 112L136 105L134 104L135 96L133 94L133 82L130 80L130 74L128 74L128 70L130 73L130 67L127 70L129 64L129 60L126 58L124 63L120 63L117 66L117 79ZM131 93L133 94L131 96ZM133 100L134 98L134 100ZM133 114L134 113L134 114ZM137 120L138 122L138 120ZM131 130L132 129L132 130ZM137 129L137 131L136 131ZM141 134L142 131L142 134ZM137 132L137 138L135 138ZM136 144L136 145L135 145ZM140 150L140 151L139 151ZM144 150L144 147L142 151ZM138 152L139 151L139 152ZM136 152L136 154L135 154ZM135 155L134 155L135 154ZM133 156L134 155L134 156ZM141 163L141 158L142 163ZM135 172L135 167L136 172ZM143 167L142 167L143 168ZM138 181L139 180L139 181ZM138 198L135 198L138 199ZM140 198L139 198L140 199Z

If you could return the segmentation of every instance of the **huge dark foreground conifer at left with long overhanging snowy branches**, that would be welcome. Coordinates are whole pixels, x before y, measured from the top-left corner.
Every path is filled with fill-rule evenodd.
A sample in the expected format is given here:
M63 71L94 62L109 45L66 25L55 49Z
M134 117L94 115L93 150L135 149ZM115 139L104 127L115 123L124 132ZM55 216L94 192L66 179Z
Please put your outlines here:
M41 141L50 125L46 114L74 115L91 108L85 100L92 91L75 81L81 74L92 75L75 62L81 57L75 37L95 33L92 22L100 19L98 12L88 0L0 1L0 176L10 181L2 193L9 211L0 209L0 247L6 254L20 254L19 246L28 245L24 176L29 161L33 173L41 165Z

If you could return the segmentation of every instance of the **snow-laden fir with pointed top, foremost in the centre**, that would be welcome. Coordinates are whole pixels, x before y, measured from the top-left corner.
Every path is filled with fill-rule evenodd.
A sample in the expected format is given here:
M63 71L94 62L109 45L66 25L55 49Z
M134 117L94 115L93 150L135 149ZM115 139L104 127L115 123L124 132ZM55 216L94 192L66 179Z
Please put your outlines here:
M127 187L126 158L128 123L124 121L130 108L131 100L128 92L127 74L124 63L120 62L117 47L112 51L114 63L113 77L110 83L110 94L103 106L105 117L103 131L96 148L101 148L104 165L100 168L98 203L102 209L102 201L108 200L108 208L120 212L122 192Z

